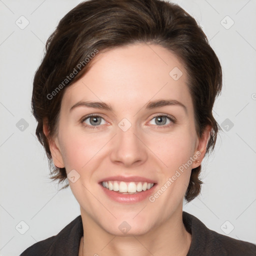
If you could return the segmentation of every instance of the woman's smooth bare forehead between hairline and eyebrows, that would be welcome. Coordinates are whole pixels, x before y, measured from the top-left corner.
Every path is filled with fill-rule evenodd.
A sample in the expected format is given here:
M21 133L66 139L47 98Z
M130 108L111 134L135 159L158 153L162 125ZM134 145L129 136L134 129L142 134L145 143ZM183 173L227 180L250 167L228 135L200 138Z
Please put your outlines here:
M144 105L149 100L175 99L192 104L181 61L155 44L132 44L98 53L87 72L66 88L63 107L80 100L109 102L113 108Z

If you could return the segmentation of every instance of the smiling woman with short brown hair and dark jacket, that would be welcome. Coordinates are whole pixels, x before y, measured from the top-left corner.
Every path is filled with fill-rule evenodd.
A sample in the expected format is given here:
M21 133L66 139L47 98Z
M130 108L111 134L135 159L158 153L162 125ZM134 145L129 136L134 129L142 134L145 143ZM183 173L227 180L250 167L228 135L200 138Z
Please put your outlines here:
M221 84L178 5L89 0L69 11L47 41L32 109L52 178L67 178L81 215L21 255L256 255L182 211L216 141Z

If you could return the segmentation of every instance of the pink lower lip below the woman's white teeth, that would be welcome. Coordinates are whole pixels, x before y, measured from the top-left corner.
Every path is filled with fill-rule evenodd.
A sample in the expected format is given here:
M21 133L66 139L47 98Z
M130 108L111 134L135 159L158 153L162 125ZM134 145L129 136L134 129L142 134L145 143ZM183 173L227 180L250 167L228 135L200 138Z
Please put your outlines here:
M153 193L153 190L156 186L156 184L154 184L150 189L141 191L141 192L137 192L136 194L122 194L122 193L115 192L113 190L109 190L109 189L103 187L101 184L99 184L99 185L101 186L104 193L108 197L110 197L114 201L123 202L123 203L135 203L135 202L139 202L139 201L142 201L142 200L148 198Z

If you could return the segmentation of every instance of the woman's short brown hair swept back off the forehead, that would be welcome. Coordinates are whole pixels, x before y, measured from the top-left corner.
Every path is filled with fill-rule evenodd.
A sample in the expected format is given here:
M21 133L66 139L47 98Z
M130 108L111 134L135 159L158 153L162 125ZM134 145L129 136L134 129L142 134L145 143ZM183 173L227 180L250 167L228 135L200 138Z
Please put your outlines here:
M195 19L180 6L162 0L88 0L79 3L59 21L46 42L44 58L33 80L31 105L38 122L36 136L45 148L51 179L62 182L67 174L65 168L52 163L43 119L47 120L49 136L54 137L63 92L85 73L89 62L72 79L67 81L66 76L95 49L100 52L137 42L161 45L182 61L188 74L197 135L200 137L210 124L206 153L214 148L219 125L212 115L212 107L221 90L222 72L216 54ZM200 192L200 170L198 166L191 171L185 193L187 201ZM68 183L62 188L67 186Z

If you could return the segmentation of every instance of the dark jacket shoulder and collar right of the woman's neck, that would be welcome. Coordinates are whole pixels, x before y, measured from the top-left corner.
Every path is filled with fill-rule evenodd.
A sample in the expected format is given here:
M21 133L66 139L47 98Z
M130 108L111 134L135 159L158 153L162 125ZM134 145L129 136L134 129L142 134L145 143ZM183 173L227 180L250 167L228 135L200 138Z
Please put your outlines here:
M183 223L191 233L192 240L187 256L221 255L221 256L255 256L256 245L219 234L207 228L198 218L184 212Z

